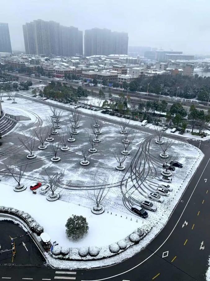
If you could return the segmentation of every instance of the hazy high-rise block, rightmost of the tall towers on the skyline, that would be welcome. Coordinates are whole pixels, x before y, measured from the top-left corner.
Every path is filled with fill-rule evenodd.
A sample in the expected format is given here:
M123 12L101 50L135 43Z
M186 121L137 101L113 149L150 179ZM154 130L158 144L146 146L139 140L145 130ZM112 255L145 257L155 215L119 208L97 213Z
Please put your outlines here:
M99 28L85 30L84 47L85 56L127 54L128 34Z

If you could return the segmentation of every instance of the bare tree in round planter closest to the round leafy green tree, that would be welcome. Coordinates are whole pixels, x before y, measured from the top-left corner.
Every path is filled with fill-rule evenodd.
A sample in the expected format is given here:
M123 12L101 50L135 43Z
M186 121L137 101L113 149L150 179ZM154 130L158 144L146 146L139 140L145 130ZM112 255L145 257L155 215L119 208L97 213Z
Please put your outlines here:
M94 182L94 192L88 192L88 198L96 204L93 206L93 210L96 212L101 210L104 212L104 207L101 205L101 203L109 192L109 188L107 188L108 181L109 178L99 179L99 188L96 187Z

